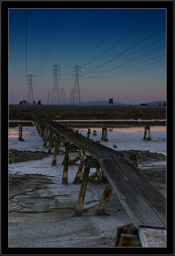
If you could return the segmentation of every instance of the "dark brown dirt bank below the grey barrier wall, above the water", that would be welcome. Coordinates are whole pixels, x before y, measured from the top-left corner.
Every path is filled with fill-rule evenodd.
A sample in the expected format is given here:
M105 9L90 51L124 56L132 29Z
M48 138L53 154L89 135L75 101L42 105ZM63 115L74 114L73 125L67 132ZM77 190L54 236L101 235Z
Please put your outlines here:
M9 109L9 120L32 120L41 114L54 120L162 120L166 119L165 109Z

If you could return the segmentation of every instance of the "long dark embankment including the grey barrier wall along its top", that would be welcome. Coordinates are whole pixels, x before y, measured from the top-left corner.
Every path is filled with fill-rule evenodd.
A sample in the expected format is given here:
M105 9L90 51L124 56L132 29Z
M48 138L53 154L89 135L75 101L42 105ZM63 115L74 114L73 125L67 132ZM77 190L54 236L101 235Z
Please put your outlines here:
M72 105L9 105L9 120L32 120L41 114L54 120L166 119L164 106L72 106Z

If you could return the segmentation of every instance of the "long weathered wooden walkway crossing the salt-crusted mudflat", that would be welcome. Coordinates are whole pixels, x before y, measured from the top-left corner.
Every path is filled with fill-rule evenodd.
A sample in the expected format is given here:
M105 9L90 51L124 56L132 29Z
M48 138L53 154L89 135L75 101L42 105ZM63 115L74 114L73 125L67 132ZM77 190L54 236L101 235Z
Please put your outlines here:
M88 163L97 162L138 230L142 246L166 247L166 199L133 161L124 154L94 142L49 118L38 115L35 124L41 130L45 127L45 132L47 128L52 134L62 135L68 140L67 152L72 143L91 156L84 168L77 207L84 205L81 200L83 194L85 196L87 184L82 183L89 177L91 165Z

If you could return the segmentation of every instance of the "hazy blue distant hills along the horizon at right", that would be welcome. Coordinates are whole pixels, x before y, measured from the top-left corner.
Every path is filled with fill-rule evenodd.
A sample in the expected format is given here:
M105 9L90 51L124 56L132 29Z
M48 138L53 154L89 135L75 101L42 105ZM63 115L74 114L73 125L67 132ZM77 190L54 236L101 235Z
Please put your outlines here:
M165 101L154 101L154 102L147 102L147 105L150 105L150 106L158 106L159 105L159 103L161 104L161 106L163 106L164 105L164 102L166 102L166 100ZM146 103L146 102L141 102L141 103ZM141 103L139 103L139 104L135 104L136 106L139 106ZM79 102L75 102L74 104L79 104ZM102 100L102 101L88 101L88 102L84 102L84 101L82 101L81 102L81 105L109 105L109 101L105 101L105 100ZM121 105L121 106L123 106L123 105L126 105L126 106L129 106L129 105L131 105L131 104L126 104L126 103L121 103L121 102L113 102L113 105Z

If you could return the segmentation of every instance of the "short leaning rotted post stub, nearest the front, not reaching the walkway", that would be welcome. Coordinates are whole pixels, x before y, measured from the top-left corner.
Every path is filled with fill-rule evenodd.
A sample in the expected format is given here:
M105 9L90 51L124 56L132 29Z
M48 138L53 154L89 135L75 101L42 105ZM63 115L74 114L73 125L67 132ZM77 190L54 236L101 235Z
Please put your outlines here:
M100 199L98 209L96 211L97 216L107 215L107 213L105 213L105 209L106 209L107 203L110 200L111 193L112 193L112 190L110 189L110 187L108 185L106 185L105 190L102 194L102 198Z

